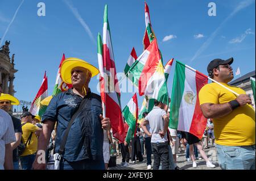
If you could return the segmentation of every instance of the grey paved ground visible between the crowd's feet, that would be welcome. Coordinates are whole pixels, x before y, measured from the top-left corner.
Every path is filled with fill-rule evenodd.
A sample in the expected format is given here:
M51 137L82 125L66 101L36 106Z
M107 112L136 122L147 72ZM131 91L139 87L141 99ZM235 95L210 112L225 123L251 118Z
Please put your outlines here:
M220 170L220 167L218 166L218 159L217 159L217 154L216 154L216 149L214 146L210 146L209 149L205 149L205 153L207 154L208 158L210 161L216 165L214 169L208 168L206 166L206 163L204 159L197 160L197 167L193 168L192 167L192 161L187 162L185 159L185 152L181 151L181 153L177 154L177 166L180 167L180 169L183 170ZM200 154L199 154L200 157ZM147 169L147 158L146 155L143 155L144 161L143 162L138 162L136 161L135 163L129 163L129 166L123 167L121 165L122 162L122 157L117 157L117 166L115 167L110 167L109 170L146 170ZM152 156L152 164L153 164L153 156Z

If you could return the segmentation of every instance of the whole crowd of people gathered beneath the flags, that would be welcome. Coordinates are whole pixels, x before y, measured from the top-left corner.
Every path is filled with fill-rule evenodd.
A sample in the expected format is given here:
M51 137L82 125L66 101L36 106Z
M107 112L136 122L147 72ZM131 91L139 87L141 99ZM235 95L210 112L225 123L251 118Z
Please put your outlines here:
M20 120L9 115L18 99L1 94L0 85L0 169L49 169L47 162L53 158L53 169L105 170L117 151L123 167L146 158L145 169L180 170L177 154L183 152L192 167L197 167L196 159L204 159L207 167L214 168L205 153L210 141L221 169L255 169L255 110L245 91L228 85L233 79L232 62L233 58L216 59L208 65L211 78L240 95L216 83L200 90L201 111L208 119L201 140L170 128L170 108L158 100L150 112L143 113L131 140L113 138L111 120L102 115L101 97L89 89L98 69L85 61L64 61L61 74L69 76L62 76L63 81L73 88L53 96L42 117L28 111ZM124 130L126 137L126 122Z

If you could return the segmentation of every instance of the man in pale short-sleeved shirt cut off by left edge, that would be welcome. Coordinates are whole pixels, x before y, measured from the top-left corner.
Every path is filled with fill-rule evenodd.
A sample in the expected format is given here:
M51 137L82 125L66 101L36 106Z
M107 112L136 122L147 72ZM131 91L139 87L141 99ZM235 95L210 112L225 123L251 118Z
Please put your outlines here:
M2 84L0 83L0 96L2 93ZM0 170L13 169L13 149L11 142L16 141L11 116L0 109Z

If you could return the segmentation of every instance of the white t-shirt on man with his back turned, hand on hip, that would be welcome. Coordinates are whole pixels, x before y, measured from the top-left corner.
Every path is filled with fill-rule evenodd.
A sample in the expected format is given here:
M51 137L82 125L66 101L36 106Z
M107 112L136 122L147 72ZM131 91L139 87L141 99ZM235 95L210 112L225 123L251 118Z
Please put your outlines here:
M164 129L164 115L167 115L166 111L162 110L160 107L154 106L152 111L150 111L150 113L148 113L148 115L145 117L145 120L147 120L150 125L152 143L168 141L166 133L164 134L163 138L159 134L159 131L163 131Z

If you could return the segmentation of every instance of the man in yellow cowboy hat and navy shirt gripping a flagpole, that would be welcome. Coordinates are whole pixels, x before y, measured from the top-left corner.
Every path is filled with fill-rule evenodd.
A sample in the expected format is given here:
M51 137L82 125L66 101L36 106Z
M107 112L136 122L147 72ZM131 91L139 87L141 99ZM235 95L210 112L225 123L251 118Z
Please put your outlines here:
M38 150L46 150L57 122L55 153L61 155L60 170L105 169L103 129L110 129L110 120L101 115L101 97L89 89L90 78L98 73L97 68L79 58L67 58L61 65L61 78L73 88L53 96L42 116L43 132L38 141ZM72 127L69 122L73 123ZM67 141L63 141L65 135L68 135ZM46 164L38 163L38 158L40 154L35 159L34 169L46 169Z

